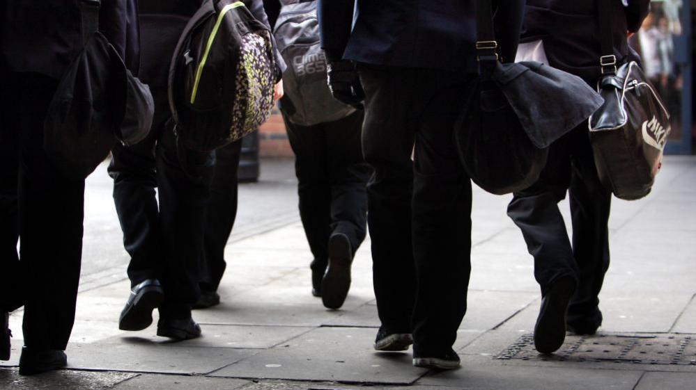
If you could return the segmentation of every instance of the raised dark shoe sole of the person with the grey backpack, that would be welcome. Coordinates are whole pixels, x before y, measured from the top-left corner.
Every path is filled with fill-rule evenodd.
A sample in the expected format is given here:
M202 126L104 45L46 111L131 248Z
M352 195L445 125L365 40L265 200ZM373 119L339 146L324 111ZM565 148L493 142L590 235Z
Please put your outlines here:
M321 301L328 309L339 309L346 302L350 290L350 265L353 254L345 234L336 234L329 240L329 265L321 279Z

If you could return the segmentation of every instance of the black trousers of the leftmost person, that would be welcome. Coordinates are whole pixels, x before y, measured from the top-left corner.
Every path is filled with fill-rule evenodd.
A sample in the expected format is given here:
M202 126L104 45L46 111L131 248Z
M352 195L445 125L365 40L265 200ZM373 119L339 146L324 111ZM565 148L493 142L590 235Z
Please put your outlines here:
M82 260L84 180L64 177L43 149L57 86L29 73L3 74L0 86L0 309L24 304L24 345L37 350L68 345Z

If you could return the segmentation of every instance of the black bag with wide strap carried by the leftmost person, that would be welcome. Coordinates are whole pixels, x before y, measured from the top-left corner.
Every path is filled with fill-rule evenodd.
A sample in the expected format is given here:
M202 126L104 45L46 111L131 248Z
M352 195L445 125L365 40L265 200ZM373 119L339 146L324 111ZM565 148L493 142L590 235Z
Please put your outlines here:
M82 51L70 63L49 105L44 149L70 179L85 179L117 141L133 145L150 131L150 88L125 67L99 30L99 0L79 1Z

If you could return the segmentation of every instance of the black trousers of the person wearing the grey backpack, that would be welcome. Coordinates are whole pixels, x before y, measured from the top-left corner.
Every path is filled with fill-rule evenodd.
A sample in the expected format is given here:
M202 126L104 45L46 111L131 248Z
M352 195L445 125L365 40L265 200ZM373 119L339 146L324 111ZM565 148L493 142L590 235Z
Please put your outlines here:
M370 168L362 157L363 111L313 126L293 124L284 115L295 152L300 218L319 272L327 266L327 244L334 233L348 236L353 253L364 241L366 184Z

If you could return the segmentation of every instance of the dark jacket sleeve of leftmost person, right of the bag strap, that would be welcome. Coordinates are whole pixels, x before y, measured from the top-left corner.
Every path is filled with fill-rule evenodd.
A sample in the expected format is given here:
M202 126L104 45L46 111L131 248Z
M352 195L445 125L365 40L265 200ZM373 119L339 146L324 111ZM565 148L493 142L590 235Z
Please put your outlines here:
M126 67L137 72L140 63L137 0L102 0L99 29L121 55Z

